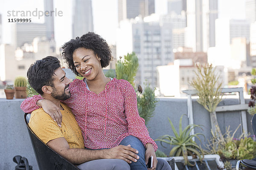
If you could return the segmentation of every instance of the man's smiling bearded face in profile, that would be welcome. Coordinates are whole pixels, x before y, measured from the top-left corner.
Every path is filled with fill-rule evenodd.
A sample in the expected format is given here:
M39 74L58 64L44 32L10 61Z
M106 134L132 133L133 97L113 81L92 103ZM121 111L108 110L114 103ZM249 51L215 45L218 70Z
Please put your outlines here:
M65 71L58 68L53 75L52 97L58 100L70 98L70 89L68 88L70 80L66 77Z

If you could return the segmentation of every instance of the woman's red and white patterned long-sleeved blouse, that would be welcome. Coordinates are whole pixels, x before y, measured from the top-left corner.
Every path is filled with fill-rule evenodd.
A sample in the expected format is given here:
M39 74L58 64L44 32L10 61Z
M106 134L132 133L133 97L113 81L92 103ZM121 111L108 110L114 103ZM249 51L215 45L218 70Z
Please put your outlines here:
M124 79L112 79L105 90L95 94L86 88L83 80L74 79L69 85L71 97L61 101L73 111L84 137L84 146L90 149L116 147L126 136L135 136L144 144L157 144L148 134L145 120L139 116L137 96L132 85ZM29 113L38 109L36 95L25 99L20 108Z

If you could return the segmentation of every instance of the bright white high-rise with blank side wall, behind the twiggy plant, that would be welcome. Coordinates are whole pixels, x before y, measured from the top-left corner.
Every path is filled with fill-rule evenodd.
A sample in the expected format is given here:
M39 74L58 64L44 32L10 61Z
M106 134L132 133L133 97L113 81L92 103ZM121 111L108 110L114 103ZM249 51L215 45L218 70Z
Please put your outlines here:
M244 67L249 52L250 21L222 18L215 23L216 45L207 51L208 62L233 69Z

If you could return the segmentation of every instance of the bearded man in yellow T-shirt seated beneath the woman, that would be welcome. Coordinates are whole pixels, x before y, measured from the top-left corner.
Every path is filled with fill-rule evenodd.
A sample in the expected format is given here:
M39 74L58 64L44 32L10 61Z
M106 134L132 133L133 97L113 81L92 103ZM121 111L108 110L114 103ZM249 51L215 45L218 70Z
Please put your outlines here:
M32 112L29 127L52 150L83 170L129 170L127 162L135 161L137 150L119 145L111 149L84 149L81 129L75 116L60 100L70 97L70 80L61 69L56 57L45 57L30 66L27 77L29 84L45 99L58 106L63 115L61 127L42 108ZM85 162L85 163L84 163Z

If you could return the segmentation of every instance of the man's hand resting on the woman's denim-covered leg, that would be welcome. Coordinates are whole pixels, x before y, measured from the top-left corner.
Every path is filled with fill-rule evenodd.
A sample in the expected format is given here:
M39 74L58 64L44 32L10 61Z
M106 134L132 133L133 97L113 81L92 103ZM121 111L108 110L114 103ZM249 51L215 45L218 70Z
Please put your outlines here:
M122 159L128 163L132 161L136 162L137 159L140 159L139 156L136 155L138 151L131 147L131 145L118 145L111 149L105 150L106 159Z

